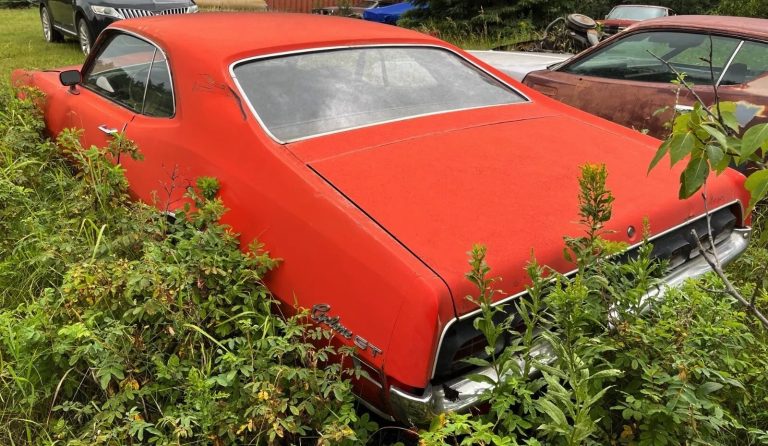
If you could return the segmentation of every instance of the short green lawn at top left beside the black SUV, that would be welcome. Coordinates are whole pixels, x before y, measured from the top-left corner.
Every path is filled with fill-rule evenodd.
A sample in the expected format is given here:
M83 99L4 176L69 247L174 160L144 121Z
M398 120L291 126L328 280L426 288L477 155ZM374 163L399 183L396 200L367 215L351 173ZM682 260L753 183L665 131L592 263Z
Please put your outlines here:
M36 8L0 9L0 88L16 68L56 68L83 63L74 40L47 43Z

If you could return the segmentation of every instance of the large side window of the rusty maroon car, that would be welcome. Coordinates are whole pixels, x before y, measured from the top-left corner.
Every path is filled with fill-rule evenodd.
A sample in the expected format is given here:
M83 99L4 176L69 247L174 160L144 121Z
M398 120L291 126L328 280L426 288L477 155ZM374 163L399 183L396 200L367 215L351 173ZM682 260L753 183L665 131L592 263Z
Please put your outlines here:
M712 65L717 80L738 39L712 36ZM585 76L642 82L667 83L676 75L661 58L695 84L711 84L709 64L710 36L680 32L648 32L629 35L613 45L579 60L564 71ZM654 57L656 56L656 57Z

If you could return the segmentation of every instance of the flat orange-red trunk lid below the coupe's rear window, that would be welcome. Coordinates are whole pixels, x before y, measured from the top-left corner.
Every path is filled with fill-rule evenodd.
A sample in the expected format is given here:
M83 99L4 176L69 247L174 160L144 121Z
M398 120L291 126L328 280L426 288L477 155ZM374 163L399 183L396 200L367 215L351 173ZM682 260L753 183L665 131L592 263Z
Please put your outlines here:
M464 277L475 243L487 245L505 294L523 289L531 255L574 269L563 257L563 236L583 233L577 179L585 163L608 168L614 239L637 243L627 229L642 233L645 217L658 233L701 214L700 197L678 200L679 170L662 163L646 176L656 150L648 141L542 115L359 147L309 165L438 274L460 315L475 308L466 296L476 290ZM713 178L710 206L740 198L740 182L735 172Z

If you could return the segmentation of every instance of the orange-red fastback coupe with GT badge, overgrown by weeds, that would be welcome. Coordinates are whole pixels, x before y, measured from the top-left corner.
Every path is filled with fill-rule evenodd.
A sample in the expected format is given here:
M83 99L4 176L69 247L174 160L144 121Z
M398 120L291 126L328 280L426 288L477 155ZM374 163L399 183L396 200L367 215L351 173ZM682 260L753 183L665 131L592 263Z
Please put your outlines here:
M678 168L646 175L657 140L414 31L317 15L126 20L77 71L15 80L47 94L52 135L135 140L144 160L120 161L141 200L172 209L192 179L219 178L225 223L284 260L275 296L356 346L359 396L404 422L467 409L486 386L468 375L491 372L462 361L483 354L465 298L474 243L489 246L503 301L525 293L532 251L574 269L562 249L582 233L579 166L608 167L615 240L637 247L648 217L670 284L708 270L688 239L705 233L704 203L678 200ZM743 181L708 183L723 262L747 244Z

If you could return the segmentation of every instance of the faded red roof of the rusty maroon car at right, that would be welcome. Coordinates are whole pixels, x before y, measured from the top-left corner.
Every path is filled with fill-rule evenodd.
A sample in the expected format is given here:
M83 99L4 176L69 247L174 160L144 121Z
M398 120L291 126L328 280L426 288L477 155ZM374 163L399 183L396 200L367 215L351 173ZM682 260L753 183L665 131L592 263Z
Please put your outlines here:
M718 34L737 34L760 40L768 40L768 20L750 17L677 15L643 20L632 26L633 30L646 28L716 31Z

